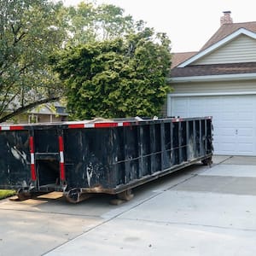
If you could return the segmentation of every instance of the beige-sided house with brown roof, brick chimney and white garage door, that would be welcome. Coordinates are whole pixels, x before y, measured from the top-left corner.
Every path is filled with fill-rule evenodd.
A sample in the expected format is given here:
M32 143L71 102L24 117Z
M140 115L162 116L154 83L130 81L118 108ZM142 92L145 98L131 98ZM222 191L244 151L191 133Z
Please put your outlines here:
M230 11L198 52L173 55L168 116L212 116L215 154L256 155L256 21Z

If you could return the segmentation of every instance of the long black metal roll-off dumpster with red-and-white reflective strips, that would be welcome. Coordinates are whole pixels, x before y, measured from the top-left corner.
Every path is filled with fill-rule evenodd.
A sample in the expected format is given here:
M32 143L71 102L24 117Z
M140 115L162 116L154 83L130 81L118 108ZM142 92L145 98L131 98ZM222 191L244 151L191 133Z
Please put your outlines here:
M211 160L211 117L0 125L0 189L22 196L63 191L76 202L93 193L127 195Z

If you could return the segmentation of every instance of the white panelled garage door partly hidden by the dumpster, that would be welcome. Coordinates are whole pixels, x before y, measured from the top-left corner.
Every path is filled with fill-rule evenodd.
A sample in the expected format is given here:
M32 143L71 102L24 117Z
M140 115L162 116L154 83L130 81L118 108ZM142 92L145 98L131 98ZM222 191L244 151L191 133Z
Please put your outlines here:
M212 116L214 154L256 155L256 96L172 96L171 115Z

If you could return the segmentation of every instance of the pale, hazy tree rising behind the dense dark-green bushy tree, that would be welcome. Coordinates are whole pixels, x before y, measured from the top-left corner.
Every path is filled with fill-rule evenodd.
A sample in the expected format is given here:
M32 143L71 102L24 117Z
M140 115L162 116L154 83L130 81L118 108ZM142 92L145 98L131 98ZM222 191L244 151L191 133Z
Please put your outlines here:
M119 38L134 27L131 15L124 15L124 9L113 4L81 2L69 8L68 20L70 44Z

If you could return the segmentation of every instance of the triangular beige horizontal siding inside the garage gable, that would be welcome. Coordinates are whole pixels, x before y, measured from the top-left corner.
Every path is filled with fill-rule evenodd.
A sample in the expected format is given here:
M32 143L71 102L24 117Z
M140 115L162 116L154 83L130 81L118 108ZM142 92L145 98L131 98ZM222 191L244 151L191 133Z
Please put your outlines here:
M256 61L256 40L241 35L191 65L211 65Z

